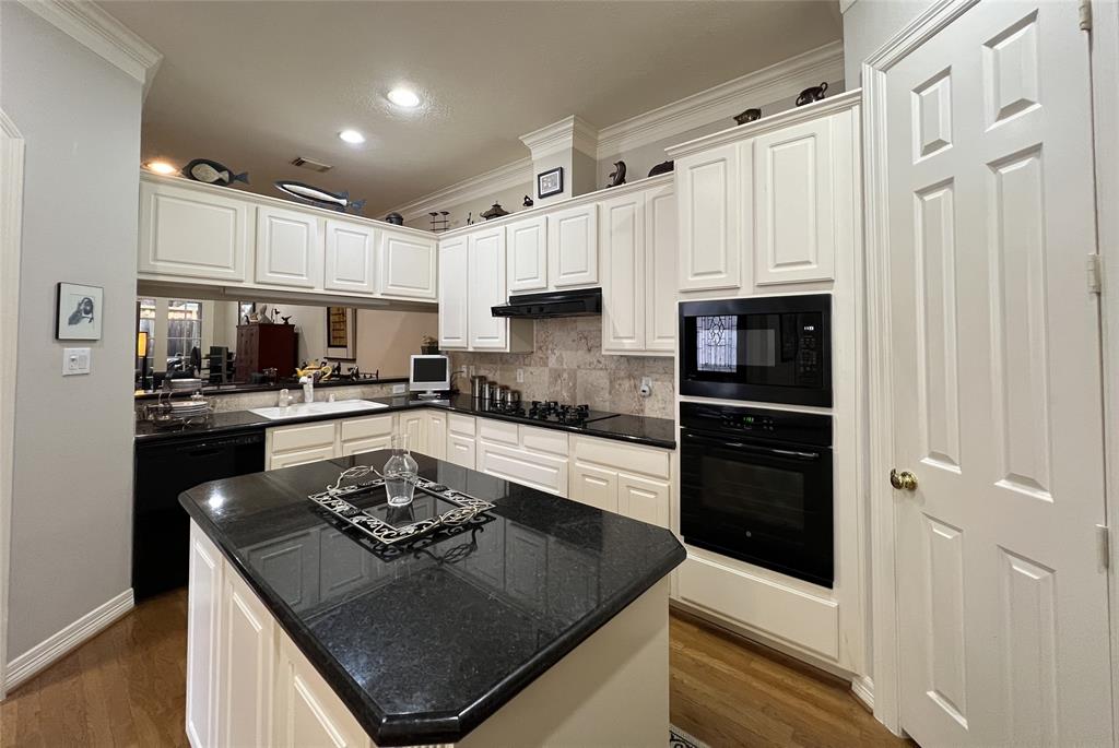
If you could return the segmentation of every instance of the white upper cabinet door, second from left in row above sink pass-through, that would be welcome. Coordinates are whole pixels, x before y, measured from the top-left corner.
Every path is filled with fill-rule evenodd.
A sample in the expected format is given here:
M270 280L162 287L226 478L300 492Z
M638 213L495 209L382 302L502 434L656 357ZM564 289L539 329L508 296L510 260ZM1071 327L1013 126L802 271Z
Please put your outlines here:
M295 210L256 209L256 282L322 287L322 219Z

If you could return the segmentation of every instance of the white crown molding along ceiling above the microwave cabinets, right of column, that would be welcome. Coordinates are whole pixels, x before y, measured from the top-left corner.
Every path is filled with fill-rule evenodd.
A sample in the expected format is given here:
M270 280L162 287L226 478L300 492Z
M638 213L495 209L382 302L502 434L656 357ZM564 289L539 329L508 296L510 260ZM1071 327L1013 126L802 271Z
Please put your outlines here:
M731 120L747 106L791 98L807 86L820 81L840 81L843 76L843 42L833 41L603 127L599 131L598 160L603 161L712 122Z

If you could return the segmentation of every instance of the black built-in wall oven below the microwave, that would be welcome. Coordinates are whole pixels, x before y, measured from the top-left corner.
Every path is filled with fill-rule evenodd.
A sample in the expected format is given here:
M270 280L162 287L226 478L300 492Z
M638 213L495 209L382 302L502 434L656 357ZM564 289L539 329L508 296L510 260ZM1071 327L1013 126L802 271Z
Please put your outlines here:
M685 542L834 581L831 417L680 404Z

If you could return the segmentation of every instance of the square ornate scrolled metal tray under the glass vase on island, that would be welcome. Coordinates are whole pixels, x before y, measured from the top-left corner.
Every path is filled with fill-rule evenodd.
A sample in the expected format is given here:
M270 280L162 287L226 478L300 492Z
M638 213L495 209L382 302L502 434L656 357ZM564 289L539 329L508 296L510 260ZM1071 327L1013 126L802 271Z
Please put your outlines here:
M480 514L493 509L488 501L424 477L416 480L416 489L422 494L413 498L406 506L388 505L382 477L341 485L347 477L369 472L369 468L351 467L342 472L333 486L308 499L385 546L414 540L440 529L461 528L477 522Z

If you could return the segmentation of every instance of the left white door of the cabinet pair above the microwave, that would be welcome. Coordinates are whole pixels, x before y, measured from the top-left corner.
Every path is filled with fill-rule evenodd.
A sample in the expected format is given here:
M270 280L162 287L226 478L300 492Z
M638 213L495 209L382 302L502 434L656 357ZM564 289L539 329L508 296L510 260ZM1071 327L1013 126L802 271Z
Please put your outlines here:
M721 145L676 162L679 192L680 291L742 286L739 148ZM749 221L746 222L749 226Z

